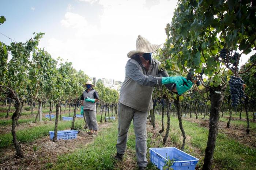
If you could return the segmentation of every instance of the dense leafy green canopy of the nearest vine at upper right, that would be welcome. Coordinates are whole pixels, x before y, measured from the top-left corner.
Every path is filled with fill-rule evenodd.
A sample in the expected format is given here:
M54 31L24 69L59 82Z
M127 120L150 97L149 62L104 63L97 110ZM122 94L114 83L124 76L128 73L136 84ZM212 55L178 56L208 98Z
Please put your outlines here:
M166 26L166 69L174 69L173 61L185 72L204 69L211 86L223 85L221 65L234 73L237 69L229 67L231 60L219 59L219 51L225 48L232 54L239 49L240 55L248 54L255 46L255 19L251 1L178 1L172 23Z

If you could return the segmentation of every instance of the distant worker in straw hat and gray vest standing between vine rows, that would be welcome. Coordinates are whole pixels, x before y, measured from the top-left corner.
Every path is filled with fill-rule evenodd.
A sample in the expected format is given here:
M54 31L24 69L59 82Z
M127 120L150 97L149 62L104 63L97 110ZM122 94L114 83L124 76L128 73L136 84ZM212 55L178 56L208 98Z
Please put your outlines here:
M99 95L96 90L93 89L93 83L91 81L86 82L86 90L84 90L81 100L81 114L85 115L86 122L89 127L89 135L98 134L98 124L96 120L96 102L99 101Z

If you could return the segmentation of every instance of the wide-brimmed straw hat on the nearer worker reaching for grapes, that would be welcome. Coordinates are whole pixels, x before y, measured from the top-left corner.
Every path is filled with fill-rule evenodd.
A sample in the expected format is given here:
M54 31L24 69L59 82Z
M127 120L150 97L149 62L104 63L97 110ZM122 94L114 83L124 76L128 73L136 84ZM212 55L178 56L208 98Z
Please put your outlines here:
M160 46L161 44L151 44L146 38L139 35L136 40L136 50L130 51L127 57L131 58L137 53L153 53L157 51Z

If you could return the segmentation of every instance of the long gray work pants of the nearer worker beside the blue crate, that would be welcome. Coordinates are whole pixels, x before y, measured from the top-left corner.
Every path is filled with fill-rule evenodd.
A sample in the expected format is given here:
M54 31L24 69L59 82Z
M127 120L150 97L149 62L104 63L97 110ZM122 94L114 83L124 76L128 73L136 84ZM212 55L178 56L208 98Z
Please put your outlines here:
M147 112L141 112L121 103L118 105L118 138L116 149L124 154L128 130L133 119L135 132L136 157L138 166L147 166Z

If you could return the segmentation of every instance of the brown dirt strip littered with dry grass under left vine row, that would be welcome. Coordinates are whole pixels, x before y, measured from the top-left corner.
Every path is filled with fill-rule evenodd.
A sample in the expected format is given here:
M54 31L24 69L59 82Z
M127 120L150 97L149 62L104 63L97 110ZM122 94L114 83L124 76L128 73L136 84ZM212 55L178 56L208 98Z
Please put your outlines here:
M109 126L109 123L99 124L99 129ZM0 151L1 170L18 169L49 169L56 163L58 155L72 152L93 142L95 136L88 135L87 132L79 131L75 140L58 140L52 142L49 136L45 136L31 143L22 144L25 158L17 159L14 157L14 147L4 148Z

